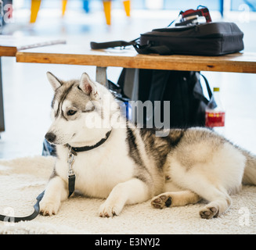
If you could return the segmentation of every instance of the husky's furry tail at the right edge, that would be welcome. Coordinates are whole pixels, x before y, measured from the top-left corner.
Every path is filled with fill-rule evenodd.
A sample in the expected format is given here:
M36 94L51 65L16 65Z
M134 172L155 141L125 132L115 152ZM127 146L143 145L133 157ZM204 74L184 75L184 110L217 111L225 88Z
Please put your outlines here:
M256 185L256 155L246 150L242 150L242 152L247 159L243 173L243 184Z

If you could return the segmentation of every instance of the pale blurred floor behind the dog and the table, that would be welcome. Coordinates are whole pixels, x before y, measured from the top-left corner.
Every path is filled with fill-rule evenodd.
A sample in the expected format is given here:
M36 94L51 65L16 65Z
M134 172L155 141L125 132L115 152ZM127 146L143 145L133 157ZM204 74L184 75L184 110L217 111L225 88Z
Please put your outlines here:
M165 27L175 16L168 12L134 12L128 20L121 11L114 11L113 25L106 27L103 13L68 13L64 20L53 11L42 10L34 27L27 27L26 15L20 14L16 23L5 32L27 35L59 36L68 43L89 46L89 41L132 40L156 27ZM254 29L256 22L240 23L247 51L256 52ZM19 29L16 27L19 24ZM16 30L16 31L15 31ZM2 59L5 102L5 127L1 134L0 158L40 155L42 141L48 130L52 88L45 73L52 71L63 79L79 78L84 71L95 77L94 66L66 66L16 63L13 58ZM110 80L117 80L121 69L109 68ZM225 134L243 148L256 153L256 75L246 73L204 72L211 87L222 88L222 102L227 117Z

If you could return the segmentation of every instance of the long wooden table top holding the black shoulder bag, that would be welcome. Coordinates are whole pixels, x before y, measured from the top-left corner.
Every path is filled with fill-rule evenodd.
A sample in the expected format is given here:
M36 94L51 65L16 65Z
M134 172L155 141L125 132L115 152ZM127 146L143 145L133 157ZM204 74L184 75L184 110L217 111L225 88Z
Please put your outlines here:
M133 48L92 50L81 45L55 45L19 51L16 53L16 61L155 70L256 73L254 52L222 56L139 55Z

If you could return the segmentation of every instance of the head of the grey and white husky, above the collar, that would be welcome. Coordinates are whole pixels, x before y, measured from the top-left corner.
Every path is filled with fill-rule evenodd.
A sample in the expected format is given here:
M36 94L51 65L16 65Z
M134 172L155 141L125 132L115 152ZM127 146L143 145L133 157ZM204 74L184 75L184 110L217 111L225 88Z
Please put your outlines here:
M45 138L52 144L94 145L111 129L109 117L118 105L106 87L93 81L87 73L80 80L59 80L47 73L55 91L52 100L52 125ZM109 105L106 105L108 99Z

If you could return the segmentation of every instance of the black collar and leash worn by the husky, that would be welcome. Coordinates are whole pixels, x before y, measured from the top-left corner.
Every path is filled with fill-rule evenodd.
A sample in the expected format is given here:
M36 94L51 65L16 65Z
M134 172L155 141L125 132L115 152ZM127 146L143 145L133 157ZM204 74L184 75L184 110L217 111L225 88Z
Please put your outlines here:
M98 148L100 145L103 145L103 143L107 140L108 137L110 137L111 130L106 133L106 137L104 137L102 140L100 140L96 145L92 146L85 146L81 148L74 148L71 147L70 145L67 145L67 148L70 149L70 152L68 154L67 162L69 163L69 170L68 170L68 190L69 190L69 195L72 195L74 193L74 187L75 187L75 173L74 170L72 169L73 163L74 163L74 156L78 155L78 152L85 152L88 150L92 150L93 148ZM40 213L40 205L39 203L41 202L41 199L44 197L45 191L42 191L40 195L38 195L37 202L34 204L34 212L31 213L29 216L24 216L24 217L14 217L14 216L5 216L0 214L0 220L4 222L11 222L11 223L17 223L20 221L26 221L26 220L34 220L36 216Z

